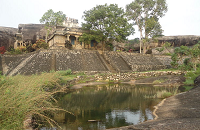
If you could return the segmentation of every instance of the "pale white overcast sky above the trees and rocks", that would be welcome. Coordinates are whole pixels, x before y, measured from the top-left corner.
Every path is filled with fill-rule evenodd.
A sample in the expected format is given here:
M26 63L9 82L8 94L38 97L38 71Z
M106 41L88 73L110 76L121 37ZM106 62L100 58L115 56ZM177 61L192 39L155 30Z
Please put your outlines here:
M17 28L19 24L39 24L49 9L84 22L83 12L96 5L118 4L125 9L134 0L0 0L0 26ZM160 19L165 36L200 35L200 0L166 0L168 12ZM128 39L139 37L138 29Z

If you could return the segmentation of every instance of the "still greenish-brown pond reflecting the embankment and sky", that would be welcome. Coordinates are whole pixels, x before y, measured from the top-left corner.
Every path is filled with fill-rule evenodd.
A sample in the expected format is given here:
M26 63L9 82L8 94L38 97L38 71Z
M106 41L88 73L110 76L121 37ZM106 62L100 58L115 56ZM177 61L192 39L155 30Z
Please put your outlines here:
M152 113L162 100L160 97L178 92L178 87L150 85L86 86L59 96L59 106L73 114L59 112L54 120L63 130L102 130L135 125L154 118Z

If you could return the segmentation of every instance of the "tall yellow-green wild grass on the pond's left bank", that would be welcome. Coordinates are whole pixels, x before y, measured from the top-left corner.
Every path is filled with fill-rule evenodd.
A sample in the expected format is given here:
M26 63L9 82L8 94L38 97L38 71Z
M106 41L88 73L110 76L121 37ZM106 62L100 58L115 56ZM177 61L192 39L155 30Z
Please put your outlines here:
M0 129L22 130L27 115L41 117L49 124L55 125L47 113L61 110L52 104L55 102L53 95L64 92L59 76L58 73L1 76Z

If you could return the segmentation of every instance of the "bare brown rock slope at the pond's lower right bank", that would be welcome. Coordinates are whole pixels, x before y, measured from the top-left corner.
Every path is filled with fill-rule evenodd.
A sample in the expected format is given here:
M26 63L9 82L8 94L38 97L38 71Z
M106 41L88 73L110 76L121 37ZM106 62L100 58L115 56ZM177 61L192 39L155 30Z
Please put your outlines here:
M164 99L154 115L154 120L110 130L200 130L200 86Z

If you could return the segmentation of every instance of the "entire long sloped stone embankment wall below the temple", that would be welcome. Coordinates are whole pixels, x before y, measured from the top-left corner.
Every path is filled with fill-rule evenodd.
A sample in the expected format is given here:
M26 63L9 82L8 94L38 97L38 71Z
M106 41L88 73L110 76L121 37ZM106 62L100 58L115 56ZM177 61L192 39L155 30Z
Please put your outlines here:
M88 50L40 50L23 55L1 55L3 74L36 74L71 69L73 72L135 72L170 67L169 57Z

